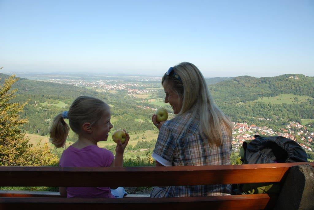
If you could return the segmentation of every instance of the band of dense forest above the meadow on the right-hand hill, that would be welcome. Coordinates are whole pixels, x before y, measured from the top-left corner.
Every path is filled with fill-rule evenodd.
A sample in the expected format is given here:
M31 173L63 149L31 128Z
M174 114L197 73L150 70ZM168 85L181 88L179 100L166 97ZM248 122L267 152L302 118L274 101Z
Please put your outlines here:
M298 79L289 78L291 76L296 76ZM307 95L314 98L313 84L314 77L305 77L303 74L284 74L262 78L239 76L208 87L217 102L246 102L279 94Z

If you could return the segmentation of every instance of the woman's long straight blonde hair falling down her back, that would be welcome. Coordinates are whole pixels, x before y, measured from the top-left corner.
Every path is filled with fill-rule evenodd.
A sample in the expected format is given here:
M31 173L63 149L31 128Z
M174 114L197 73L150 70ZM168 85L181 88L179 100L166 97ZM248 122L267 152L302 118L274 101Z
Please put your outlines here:
M200 120L200 133L208 139L210 146L221 146L223 143L222 126L228 136L232 136L232 124L214 103L206 81L200 70L191 63L182 62L173 67L181 81L170 75L164 75L161 84L167 86L182 98L182 108L178 115L192 112Z

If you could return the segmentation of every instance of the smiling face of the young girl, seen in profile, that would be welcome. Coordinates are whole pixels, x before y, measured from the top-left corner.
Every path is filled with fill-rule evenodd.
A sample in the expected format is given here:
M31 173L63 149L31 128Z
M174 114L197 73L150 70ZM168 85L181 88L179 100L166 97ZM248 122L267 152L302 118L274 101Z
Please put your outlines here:
M110 122L110 109L106 109L100 120L96 122L96 124L93 126L93 136L94 139L98 141L107 141L108 139L108 133L113 128L113 125Z

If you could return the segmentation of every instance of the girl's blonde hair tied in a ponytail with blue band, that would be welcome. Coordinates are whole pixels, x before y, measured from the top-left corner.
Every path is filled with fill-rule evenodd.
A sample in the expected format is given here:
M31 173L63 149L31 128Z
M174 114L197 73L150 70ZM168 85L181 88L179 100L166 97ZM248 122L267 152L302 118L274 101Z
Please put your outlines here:
M107 109L110 109L110 107L100 99L89 96L77 97L68 111L69 124L72 131L80 135L84 123L88 122L94 125ZM53 119L49 130L51 143L56 147L64 146L70 127L64 121L62 113L58 114Z

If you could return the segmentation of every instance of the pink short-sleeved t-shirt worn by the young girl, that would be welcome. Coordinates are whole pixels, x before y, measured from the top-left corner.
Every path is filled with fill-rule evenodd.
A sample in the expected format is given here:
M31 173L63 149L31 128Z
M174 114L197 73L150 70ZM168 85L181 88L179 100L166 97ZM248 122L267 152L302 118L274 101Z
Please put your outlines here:
M60 167L108 167L111 165L114 156L111 151L100 148L96 145L86 146L77 149L69 146L63 151L60 158ZM90 177L93 179L93 177ZM104 177L106 179L106 177ZM66 187L68 197L109 197L109 187Z

